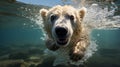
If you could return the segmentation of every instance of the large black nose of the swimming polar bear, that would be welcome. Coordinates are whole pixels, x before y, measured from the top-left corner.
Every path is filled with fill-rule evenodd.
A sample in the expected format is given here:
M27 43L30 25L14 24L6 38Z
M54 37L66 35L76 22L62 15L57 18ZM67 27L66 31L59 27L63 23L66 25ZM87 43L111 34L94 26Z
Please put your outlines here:
M64 28L64 27L56 27L55 33L58 37L62 38L62 37L65 37L67 35L68 30L67 30L67 28Z

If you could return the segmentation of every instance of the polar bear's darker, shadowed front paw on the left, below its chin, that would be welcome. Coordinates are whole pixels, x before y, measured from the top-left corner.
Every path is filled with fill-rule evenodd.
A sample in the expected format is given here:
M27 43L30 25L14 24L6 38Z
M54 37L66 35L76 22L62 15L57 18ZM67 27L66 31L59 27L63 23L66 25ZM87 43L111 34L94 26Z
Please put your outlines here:
M52 50L52 51L56 51L57 49L60 48L60 47L57 46L57 45L55 44L55 42L54 42L53 40L51 40L51 39L47 39L47 41L46 41L45 44L46 44L47 48L48 48L49 50Z

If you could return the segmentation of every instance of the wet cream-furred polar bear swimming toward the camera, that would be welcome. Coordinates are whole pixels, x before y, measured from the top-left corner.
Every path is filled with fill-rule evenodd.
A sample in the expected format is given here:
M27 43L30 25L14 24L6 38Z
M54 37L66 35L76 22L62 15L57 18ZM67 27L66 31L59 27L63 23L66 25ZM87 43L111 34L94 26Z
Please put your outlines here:
M78 61L85 55L89 45L88 32L83 24L86 8L75 9L70 5L41 9L44 30L48 35L46 46L49 50L69 47L69 57Z

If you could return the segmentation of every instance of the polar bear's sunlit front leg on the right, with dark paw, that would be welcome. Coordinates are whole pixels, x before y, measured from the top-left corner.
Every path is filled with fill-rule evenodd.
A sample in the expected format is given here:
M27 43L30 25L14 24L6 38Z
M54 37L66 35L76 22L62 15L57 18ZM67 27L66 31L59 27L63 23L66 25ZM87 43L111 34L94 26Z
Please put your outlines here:
M87 48L87 44L85 41L78 42L70 51L70 59L72 61L78 61L82 59L85 55L85 50Z

